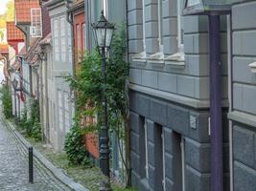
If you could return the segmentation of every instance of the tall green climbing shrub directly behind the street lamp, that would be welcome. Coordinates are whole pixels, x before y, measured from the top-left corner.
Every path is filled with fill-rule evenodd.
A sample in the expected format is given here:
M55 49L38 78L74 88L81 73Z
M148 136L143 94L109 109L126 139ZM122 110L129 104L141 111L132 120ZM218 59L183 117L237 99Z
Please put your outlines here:
M98 116L103 112L102 93L105 89L109 131L115 131L118 138L128 139L125 133L126 128L124 128L124 123L125 127L128 127L127 86L129 65L125 59L126 53L126 31L122 27L114 33L109 58L106 60L106 84L102 77L102 59L97 51L85 53L80 71L75 77L67 77L70 87L76 92L76 125L73 128L81 128L81 135L98 132L100 129L102 118ZM98 118L95 123L83 128L81 118L85 117ZM71 134L67 136L66 142L72 139L70 136ZM75 139L75 136L73 139ZM75 145L76 143L77 140L74 140L73 144ZM70 144L69 142L66 145L72 147ZM126 146L128 147L128 144ZM65 150L68 151L69 148L66 147ZM127 166L126 159L123 156L122 159ZM129 170L128 166L127 169Z

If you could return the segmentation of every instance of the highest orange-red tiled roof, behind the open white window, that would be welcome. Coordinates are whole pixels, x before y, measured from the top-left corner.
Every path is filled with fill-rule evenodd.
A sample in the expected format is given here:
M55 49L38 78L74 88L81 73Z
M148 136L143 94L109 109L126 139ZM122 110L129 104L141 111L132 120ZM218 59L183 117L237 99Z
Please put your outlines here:
M31 9L40 8L39 0L14 0L17 23L31 22Z

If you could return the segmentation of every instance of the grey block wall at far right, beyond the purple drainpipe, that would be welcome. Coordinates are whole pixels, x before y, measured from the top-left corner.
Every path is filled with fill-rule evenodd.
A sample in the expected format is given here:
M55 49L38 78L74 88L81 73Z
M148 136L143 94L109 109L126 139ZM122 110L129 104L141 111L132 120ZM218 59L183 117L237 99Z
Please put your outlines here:
M234 190L256 190L256 1L232 7Z

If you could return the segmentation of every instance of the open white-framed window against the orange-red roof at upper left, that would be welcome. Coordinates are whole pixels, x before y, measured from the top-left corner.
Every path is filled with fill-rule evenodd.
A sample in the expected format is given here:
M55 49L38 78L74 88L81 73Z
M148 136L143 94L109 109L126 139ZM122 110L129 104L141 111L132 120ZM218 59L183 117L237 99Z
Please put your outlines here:
M32 37L42 36L42 16L41 9L31 9L31 28Z

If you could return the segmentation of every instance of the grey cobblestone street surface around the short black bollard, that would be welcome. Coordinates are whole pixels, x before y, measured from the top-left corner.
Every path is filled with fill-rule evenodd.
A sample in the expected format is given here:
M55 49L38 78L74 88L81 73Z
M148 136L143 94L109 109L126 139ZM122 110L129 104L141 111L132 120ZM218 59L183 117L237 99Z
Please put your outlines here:
M28 181L28 154L0 120L0 191L69 190L38 162L34 184Z

